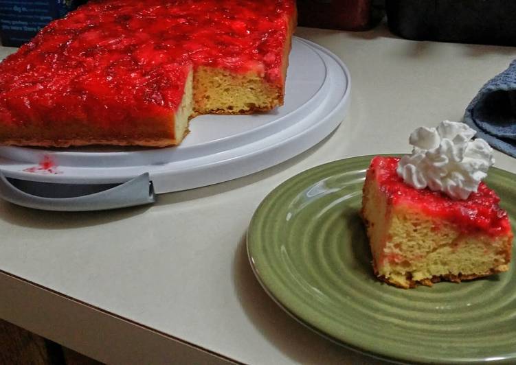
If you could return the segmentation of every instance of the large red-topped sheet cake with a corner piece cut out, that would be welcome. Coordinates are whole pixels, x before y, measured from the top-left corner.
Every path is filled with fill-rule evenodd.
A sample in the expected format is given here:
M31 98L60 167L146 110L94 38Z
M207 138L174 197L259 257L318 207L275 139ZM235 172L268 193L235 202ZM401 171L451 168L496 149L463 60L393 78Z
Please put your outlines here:
M283 103L294 0L93 0L0 63L0 144L165 146Z

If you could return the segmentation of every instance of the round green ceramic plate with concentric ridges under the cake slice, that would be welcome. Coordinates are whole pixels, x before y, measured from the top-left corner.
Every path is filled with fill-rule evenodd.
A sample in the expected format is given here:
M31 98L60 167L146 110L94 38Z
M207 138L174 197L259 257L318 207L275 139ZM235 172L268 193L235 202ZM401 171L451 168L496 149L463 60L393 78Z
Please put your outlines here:
M371 158L309 169L265 198L247 237L262 286L304 325L363 353L402 362L515 364L514 265L486 279L411 290L375 279L359 217ZM486 179L513 229L515 180L495 168Z

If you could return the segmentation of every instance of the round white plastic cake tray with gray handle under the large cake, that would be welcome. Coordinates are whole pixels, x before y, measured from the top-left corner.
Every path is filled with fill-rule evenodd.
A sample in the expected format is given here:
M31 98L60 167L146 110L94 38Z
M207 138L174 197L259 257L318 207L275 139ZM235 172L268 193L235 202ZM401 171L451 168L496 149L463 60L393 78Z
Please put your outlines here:
M0 147L0 197L54 211L130 207L287 161L337 128L350 102L346 66L315 43L293 38L287 74L280 108L196 117L177 147Z

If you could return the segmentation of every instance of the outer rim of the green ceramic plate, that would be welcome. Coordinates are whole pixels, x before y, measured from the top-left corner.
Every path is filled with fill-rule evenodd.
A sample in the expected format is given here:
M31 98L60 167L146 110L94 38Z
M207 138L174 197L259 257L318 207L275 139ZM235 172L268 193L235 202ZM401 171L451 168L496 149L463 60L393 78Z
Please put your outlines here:
M295 174L294 176L291 176L287 180L284 180L282 183L280 183L274 189L272 189L267 194L267 196L265 196L265 198L262 199L262 201L260 202L260 204L258 205L256 210L254 211L254 214L252 215L251 221L249 223L249 228L247 229L247 233L246 233L247 258L249 259L249 264L251 266L251 270L254 273L254 276L258 280L258 283L260 283L260 286L263 288L263 290L265 290L267 295L274 301L274 303L276 303L283 311L285 311L287 314L289 314L289 316L291 316L291 318L294 318L296 321L298 321L302 325L304 325L304 327L307 327L307 328L311 329L312 331L315 331L315 333L321 335L322 337L326 338L327 340L330 340L331 342L339 344L340 346L343 346L346 349L350 349L352 351L357 351L358 353L361 353L363 355L368 355L370 357L374 357L379 360L386 360L388 362L399 363L399 364L403 364L405 362L435 363L435 364L480 364L480 363L485 363L487 361L485 356L484 357L480 357L480 356L477 356L477 357L449 356L449 357L445 358L442 356L429 357L426 355L422 356L422 355L416 355L416 354L394 355L393 353L392 354L388 353L388 351L387 351L387 353L383 353L381 351L374 351L374 350L368 348L367 344L363 344L363 343L357 344L357 343L348 342L349 338L352 338L352 333L354 333L353 330L350 330L352 332L350 333L350 335L348 335L347 339L337 338L337 337L331 335L330 333L327 333L325 331L325 329L319 328L319 327L317 327L317 325L313 324L312 322L309 322L310 318L308 320L305 318L302 318L302 316L300 316L298 313L296 313L295 309L289 308L289 303L283 303L281 301L281 299L278 298L278 296L276 296L273 293L273 289L271 289L271 287L269 287L268 283L266 283L267 277L264 279L264 277L260 274L260 270L257 268L256 263L255 263L256 255L253 255L253 252L252 252L252 250L253 250L253 248L251 247L253 245L252 244L252 241L253 241L252 236L254 235L254 231L258 230L258 228L256 228L256 217L258 216L258 213L260 212L260 210L264 209L264 207L266 207L267 204L269 204L269 200L271 200L274 196L276 196L276 194L279 191L281 191L282 188L289 185L289 183L292 183L293 181L298 180L298 179L302 180L304 175L308 175L311 172L314 172L317 170L324 170L325 168L328 168L329 166L340 165L341 163L346 163L346 162L350 162L350 163L355 162L355 163L361 164L363 169L367 169L370 160L372 158L374 158L374 156L403 156L403 154L398 154L398 153L396 153L396 154L368 154L368 155L360 155L360 156L351 156L348 158L341 158L339 160L330 161L328 163L323 163L321 165L317 165L317 166L311 167L309 169L306 169L298 174ZM513 179L516 179L516 174L508 172L504 169L500 169L498 167L491 167L489 172L494 172L494 174L496 174L499 178L502 178L502 179L511 178L511 176ZM333 176L333 175L325 176L325 178L328 178L330 176ZM487 180L489 180L489 175L488 175ZM514 250L514 248L513 248L513 250ZM297 305L302 306L302 307L309 307L302 303L301 304L298 303ZM511 355L504 355L504 357L501 357L500 359L491 360L489 362L495 363L495 364L506 364L506 363L513 363L515 360L516 360L516 351L515 351L515 353L513 353Z

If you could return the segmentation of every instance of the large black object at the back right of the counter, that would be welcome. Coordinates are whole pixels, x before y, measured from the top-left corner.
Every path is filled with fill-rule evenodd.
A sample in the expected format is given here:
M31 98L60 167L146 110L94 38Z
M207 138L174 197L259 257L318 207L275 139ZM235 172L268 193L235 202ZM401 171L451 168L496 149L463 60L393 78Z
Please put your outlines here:
M386 10L403 38L516 45L513 0L387 0Z

